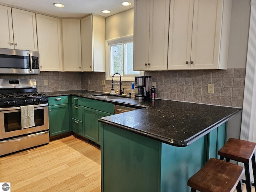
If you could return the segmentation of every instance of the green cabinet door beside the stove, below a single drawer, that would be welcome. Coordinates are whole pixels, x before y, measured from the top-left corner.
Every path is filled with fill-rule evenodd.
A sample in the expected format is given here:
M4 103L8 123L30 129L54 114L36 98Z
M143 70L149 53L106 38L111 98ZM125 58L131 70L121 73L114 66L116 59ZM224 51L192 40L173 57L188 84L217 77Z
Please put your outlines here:
M49 106L50 136L69 132L68 104Z

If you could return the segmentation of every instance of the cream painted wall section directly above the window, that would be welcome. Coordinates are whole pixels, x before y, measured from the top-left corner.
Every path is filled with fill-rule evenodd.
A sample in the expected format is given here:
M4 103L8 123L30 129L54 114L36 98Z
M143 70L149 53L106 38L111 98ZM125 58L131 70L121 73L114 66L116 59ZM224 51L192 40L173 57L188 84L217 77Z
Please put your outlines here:
M133 8L106 18L106 40L133 34Z

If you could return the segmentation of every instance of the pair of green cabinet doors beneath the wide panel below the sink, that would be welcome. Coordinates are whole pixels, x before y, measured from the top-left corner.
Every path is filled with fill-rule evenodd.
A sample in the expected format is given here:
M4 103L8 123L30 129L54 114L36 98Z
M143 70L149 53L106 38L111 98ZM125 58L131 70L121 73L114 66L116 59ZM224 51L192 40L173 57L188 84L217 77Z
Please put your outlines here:
M110 113L102 112L99 110L82 107L83 116L83 136L97 144L100 144L101 133L98 118L112 115Z

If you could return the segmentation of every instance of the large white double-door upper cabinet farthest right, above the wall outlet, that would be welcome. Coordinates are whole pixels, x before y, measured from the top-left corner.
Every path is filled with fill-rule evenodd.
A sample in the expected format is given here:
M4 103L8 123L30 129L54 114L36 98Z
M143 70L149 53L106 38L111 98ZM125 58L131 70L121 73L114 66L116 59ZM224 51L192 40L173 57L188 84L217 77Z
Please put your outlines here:
M232 0L172 0L168 70L227 69Z

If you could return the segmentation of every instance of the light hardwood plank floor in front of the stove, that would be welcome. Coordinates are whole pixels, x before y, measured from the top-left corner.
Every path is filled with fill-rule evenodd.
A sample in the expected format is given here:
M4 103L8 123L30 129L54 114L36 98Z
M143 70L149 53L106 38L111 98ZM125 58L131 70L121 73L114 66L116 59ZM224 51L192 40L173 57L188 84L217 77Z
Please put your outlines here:
M0 158L12 192L100 192L100 149L74 136Z

